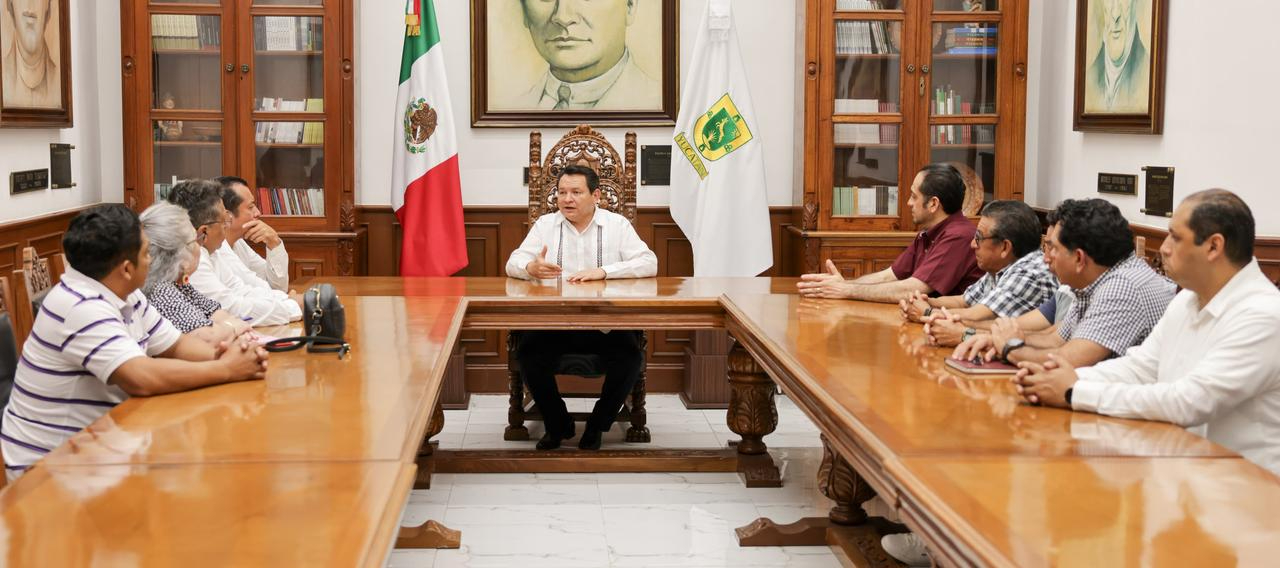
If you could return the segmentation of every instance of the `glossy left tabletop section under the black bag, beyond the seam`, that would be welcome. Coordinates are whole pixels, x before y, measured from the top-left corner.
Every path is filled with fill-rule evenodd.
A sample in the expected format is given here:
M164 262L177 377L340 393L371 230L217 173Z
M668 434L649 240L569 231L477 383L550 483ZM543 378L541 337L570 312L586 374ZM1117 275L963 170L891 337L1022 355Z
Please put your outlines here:
M44 463L411 459L456 342L460 299L348 297L352 351L273 353L266 380L125 400ZM271 329L296 335L301 326Z

